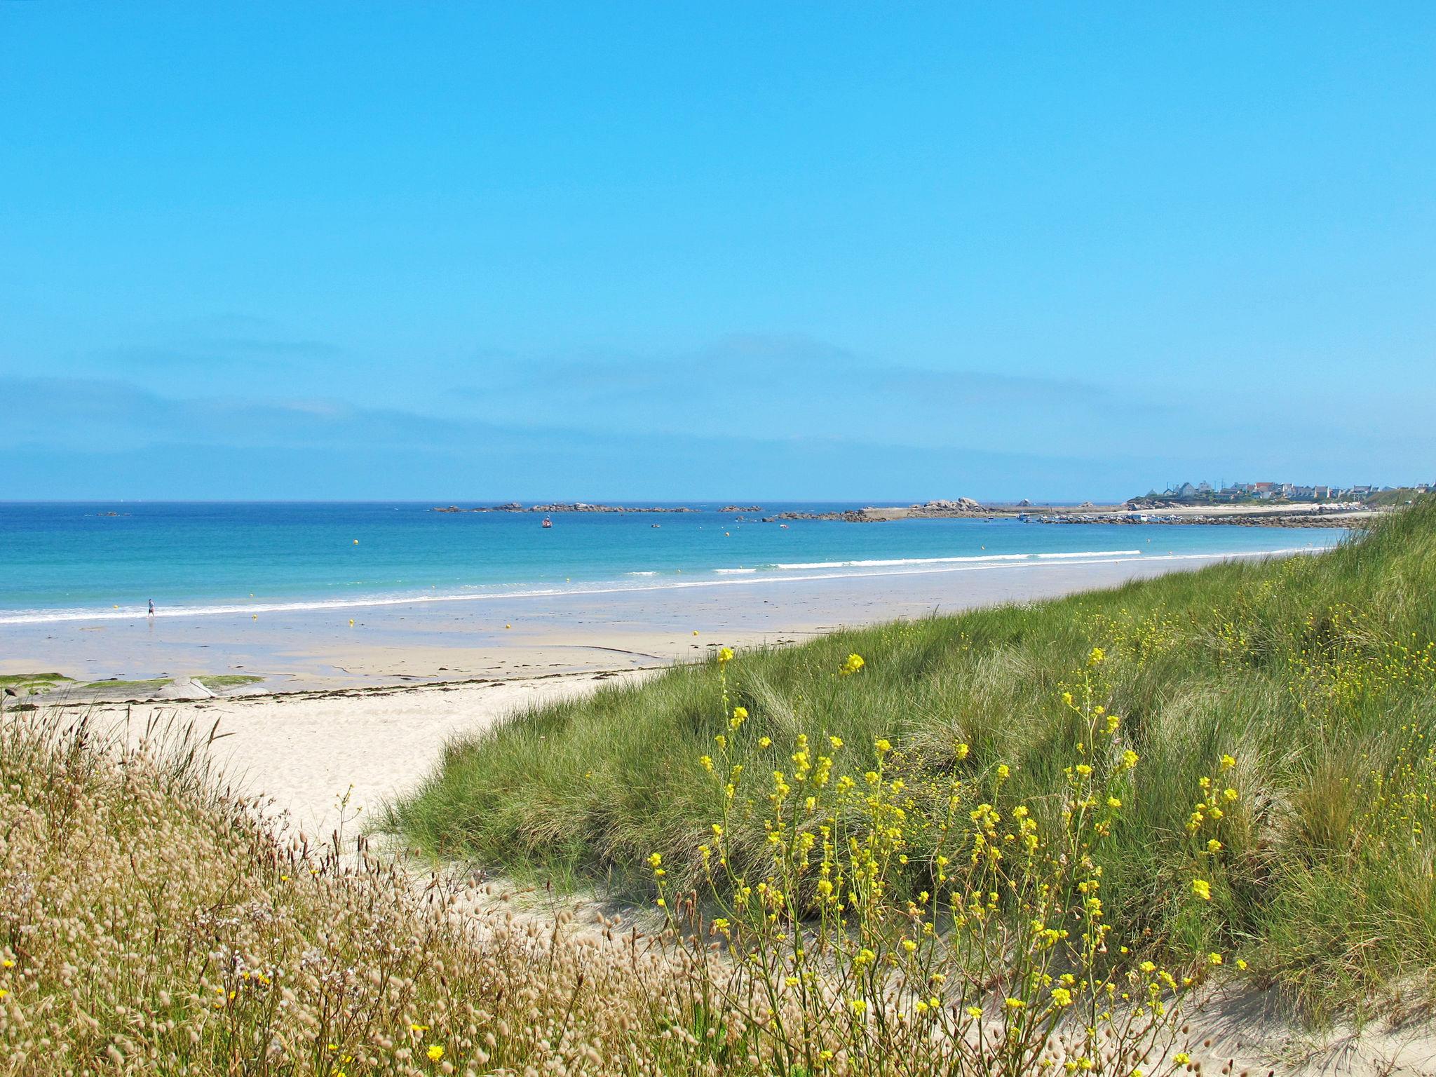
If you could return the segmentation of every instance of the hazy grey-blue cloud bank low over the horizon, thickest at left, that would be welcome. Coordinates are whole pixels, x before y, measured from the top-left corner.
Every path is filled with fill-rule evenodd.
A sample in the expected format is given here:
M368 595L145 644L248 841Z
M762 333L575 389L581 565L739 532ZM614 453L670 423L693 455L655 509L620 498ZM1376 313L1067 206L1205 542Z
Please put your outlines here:
M329 401L187 401L116 381L9 379L0 395L14 416L0 498L882 500L997 495L1020 477L1032 491L1070 467L1040 452L913 449L841 434L615 434Z

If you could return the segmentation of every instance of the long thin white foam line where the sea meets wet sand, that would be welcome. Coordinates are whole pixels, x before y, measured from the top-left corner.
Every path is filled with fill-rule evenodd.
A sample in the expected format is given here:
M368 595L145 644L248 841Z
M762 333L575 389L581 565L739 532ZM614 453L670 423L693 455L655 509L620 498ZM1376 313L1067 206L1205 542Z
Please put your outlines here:
M1176 553L1176 554L1137 554L1137 556L1117 556L1109 554L1101 557L1093 557L1091 560L1076 560L1076 559L1057 559L1057 560L1038 560L1040 554L994 554L994 560L982 560L979 563L972 563L965 560L961 564L954 564L948 559L942 559L942 563L931 563L928 559L919 559L916 564L906 564L905 567L890 567L880 572L820 572L820 573L803 573L803 574L787 574L787 576L758 576L757 569L752 574L731 576L718 580L662 580L658 583L632 583L632 584L595 584L589 587L570 586L570 587L541 587L530 590L511 590L511 592L480 592L468 595L393 595L393 596L373 596L373 597L359 597L359 599L320 599L310 602L273 602L273 603L254 603L248 606L240 605L225 605L225 606L172 606L155 612L157 617L218 617L218 616L234 616L234 615L257 615L257 613L310 613L319 610L339 610L339 609L379 609L385 606L419 606L435 602L498 602L504 599L546 599L546 597L586 597L590 595L630 595L638 592L651 590L689 590L694 587L732 587L732 586L765 586L777 583L810 583L816 580L856 580L856 579L870 579L880 576L923 576L933 573L952 573L952 572L989 572L992 569L1055 569L1055 567L1080 567L1083 564L1120 564L1124 561L1142 561L1143 564L1149 561L1225 561L1245 557L1284 557L1298 553L1323 553L1327 547L1291 547L1284 550L1242 550L1238 553ZM1080 554L1081 556L1081 554ZM997 560L997 559L1001 560ZM118 610L26 610L22 613L9 613L0 616L0 626L3 625L52 625L62 622L93 622L93 620L144 620L146 616L142 607L136 609L118 609Z

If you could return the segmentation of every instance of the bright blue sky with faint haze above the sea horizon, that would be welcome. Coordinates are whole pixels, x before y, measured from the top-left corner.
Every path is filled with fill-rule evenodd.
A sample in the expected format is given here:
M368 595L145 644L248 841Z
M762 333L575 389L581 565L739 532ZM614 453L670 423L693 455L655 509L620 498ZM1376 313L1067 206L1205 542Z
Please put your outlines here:
M1436 478L1436 4L0 0L0 498Z

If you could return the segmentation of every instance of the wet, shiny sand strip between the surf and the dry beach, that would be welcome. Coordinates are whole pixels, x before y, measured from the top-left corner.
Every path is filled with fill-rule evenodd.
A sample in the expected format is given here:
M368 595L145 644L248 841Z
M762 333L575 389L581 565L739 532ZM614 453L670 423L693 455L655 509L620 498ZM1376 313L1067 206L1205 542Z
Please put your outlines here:
M234 698L632 671L718 646L783 646L844 626L1058 597L1223 560L1298 553L1305 550L985 560L864 574L732 576L671 587L393 600L263 616L247 609L167 610L154 619L106 613L7 625L0 676L47 671L69 678L72 692L86 685L90 696L144 701L168 686L146 685L157 679L261 678L217 694ZM119 691L108 691L105 681L115 681Z

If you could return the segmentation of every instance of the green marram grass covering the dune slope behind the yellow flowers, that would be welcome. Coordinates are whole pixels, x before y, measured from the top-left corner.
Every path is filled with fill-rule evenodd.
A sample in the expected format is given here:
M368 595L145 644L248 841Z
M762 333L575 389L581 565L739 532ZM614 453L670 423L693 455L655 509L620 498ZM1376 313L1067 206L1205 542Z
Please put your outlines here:
M840 738L834 765L856 774L886 738L889 771L913 787L952 773L999 808L1051 814L1087 735L1064 694L1100 648L1100 704L1142 758L1124 826L1096 853L1111 920L1175 951L1239 956L1256 984L1325 1018L1397 987L1430 989L1432 640L1426 498L1318 556L839 632L534 708L451 744L385 824L434 856L580 880L646 883L656 852L673 886L692 886L711 823L725 817L724 775L701 761L719 755L719 737L724 767L764 780L791 770L800 737ZM853 653L863 668L840 675ZM750 715L740 729L734 707ZM1179 899L1188 824L1228 754L1249 807L1223 834L1208 915L1193 916ZM727 816L735 863L761 860L764 797L742 793L745 810ZM933 870L919 839L892 885L929 889Z

